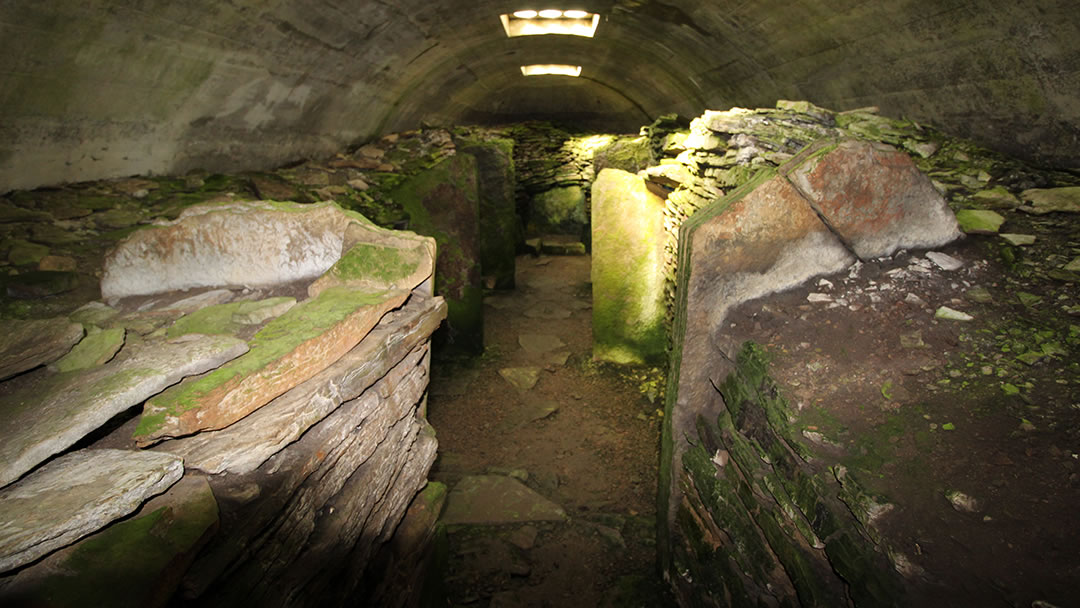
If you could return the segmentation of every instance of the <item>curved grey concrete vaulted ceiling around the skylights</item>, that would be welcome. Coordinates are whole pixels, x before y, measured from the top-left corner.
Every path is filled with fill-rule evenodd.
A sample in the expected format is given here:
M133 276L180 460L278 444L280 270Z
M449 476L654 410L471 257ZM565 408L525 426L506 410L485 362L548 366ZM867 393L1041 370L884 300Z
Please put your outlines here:
M500 13L545 8L600 14L596 37L505 37ZM267 167L421 124L636 132L778 98L1080 165L1072 0L10 0L0 28L0 192ZM583 71L523 77L535 63Z

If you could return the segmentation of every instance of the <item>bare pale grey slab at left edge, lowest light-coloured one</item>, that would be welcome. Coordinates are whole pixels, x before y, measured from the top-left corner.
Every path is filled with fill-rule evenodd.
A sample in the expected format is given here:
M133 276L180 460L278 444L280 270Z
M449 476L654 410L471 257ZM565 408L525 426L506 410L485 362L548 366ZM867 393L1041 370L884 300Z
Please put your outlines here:
M105 527L184 475L168 454L84 449L0 490L0 572Z

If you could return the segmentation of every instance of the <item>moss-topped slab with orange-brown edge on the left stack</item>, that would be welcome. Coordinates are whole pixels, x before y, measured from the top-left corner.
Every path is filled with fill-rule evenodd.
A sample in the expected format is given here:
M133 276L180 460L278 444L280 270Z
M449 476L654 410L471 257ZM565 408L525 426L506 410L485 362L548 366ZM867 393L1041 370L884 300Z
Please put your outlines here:
M408 295L332 287L296 305L259 329L243 356L148 401L136 442L232 424L341 359Z

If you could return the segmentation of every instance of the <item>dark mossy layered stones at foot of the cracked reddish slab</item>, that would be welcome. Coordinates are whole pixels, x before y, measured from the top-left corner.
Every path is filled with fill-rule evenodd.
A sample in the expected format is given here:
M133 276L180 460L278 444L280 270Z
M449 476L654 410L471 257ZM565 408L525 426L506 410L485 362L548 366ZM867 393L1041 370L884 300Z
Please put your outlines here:
M698 417L670 472L681 497L667 575L683 604L901 605L901 579L868 527L880 505L850 474L841 486L801 440L765 351L744 343L715 389L726 407Z

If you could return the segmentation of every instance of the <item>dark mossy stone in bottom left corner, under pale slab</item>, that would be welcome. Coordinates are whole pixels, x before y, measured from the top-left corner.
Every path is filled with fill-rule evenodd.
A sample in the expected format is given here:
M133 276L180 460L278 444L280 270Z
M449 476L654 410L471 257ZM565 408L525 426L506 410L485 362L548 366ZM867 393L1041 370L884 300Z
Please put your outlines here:
M125 521L19 571L0 589L0 602L56 608L166 606L218 524L206 478L187 475Z

